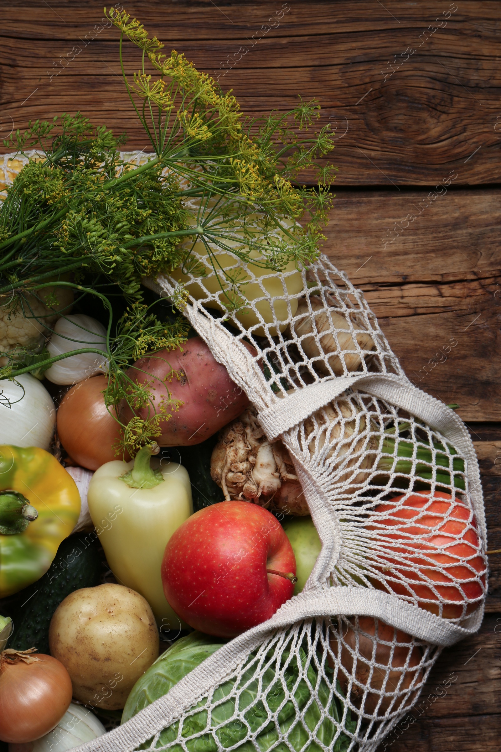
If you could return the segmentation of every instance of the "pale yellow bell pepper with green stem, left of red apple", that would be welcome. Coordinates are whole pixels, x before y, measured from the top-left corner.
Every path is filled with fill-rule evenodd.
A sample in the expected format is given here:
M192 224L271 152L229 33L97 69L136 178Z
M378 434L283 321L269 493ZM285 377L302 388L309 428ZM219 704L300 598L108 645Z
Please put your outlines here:
M162 635L174 639L187 625L165 599L160 567L169 538L193 514L192 487L183 465L152 470L151 455L143 447L133 462L101 465L87 501L116 581L146 598Z

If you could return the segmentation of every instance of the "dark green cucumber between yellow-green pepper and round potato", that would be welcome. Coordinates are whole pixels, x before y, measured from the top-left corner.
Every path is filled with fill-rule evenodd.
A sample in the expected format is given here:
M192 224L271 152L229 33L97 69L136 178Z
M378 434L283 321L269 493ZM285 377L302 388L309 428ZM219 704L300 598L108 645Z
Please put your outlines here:
M7 614L14 622L8 647L49 653L49 625L54 611L66 596L81 587L101 582L101 544L95 532L77 532L60 544L50 569L37 582L17 593Z

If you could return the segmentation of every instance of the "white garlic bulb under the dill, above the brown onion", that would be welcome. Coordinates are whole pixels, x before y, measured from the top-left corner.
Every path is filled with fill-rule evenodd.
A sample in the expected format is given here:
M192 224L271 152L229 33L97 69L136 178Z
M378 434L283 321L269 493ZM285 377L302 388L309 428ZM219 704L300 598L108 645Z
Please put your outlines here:
M106 349L106 329L97 320L84 314L72 314L59 319L47 343L53 358L71 350L94 345ZM107 359L98 353L81 353L59 360L45 371L44 376L53 384L76 384L100 371L106 370Z

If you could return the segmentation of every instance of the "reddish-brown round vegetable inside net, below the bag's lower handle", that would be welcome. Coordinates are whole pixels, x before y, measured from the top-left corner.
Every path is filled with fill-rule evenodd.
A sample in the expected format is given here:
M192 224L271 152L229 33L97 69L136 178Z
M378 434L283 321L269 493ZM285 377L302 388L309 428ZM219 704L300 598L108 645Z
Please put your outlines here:
M394 637L396 644L392 655L391 645L385 643L393 643ZM355 657L357 641L358 656ZM341 689L346 695L349 678L352 677L350 699L364 714L376 713L380 698L381 704L376 713L378 716L384 715L390 705L391 712L397 711L402 704L404 707L409 706L423 681L423 669L418 668L422 659L421 648L418 645L412 646L412 637L405 632L394 629L380 619L358 617L358 629L354 623L349 623L348 629L344 625L343 640L330 638L330 650L340 660L337 678ZM376 666L370 675L372 660ZM331 656L328 656L328 663L333 669L334 662ZM407 669L404 670L406 663ZM411 684L413 689L406 697L406 690L409 690ZM362 706L366 688L367 695Z

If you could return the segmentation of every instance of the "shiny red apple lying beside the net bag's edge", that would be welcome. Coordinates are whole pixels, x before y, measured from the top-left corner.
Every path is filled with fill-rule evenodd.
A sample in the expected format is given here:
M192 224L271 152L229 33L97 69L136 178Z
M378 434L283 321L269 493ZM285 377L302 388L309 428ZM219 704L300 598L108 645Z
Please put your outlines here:
M220 502L183 523L165 547L161 579L174 611L194 629L235 637L291 598L296 560L269 511Z

